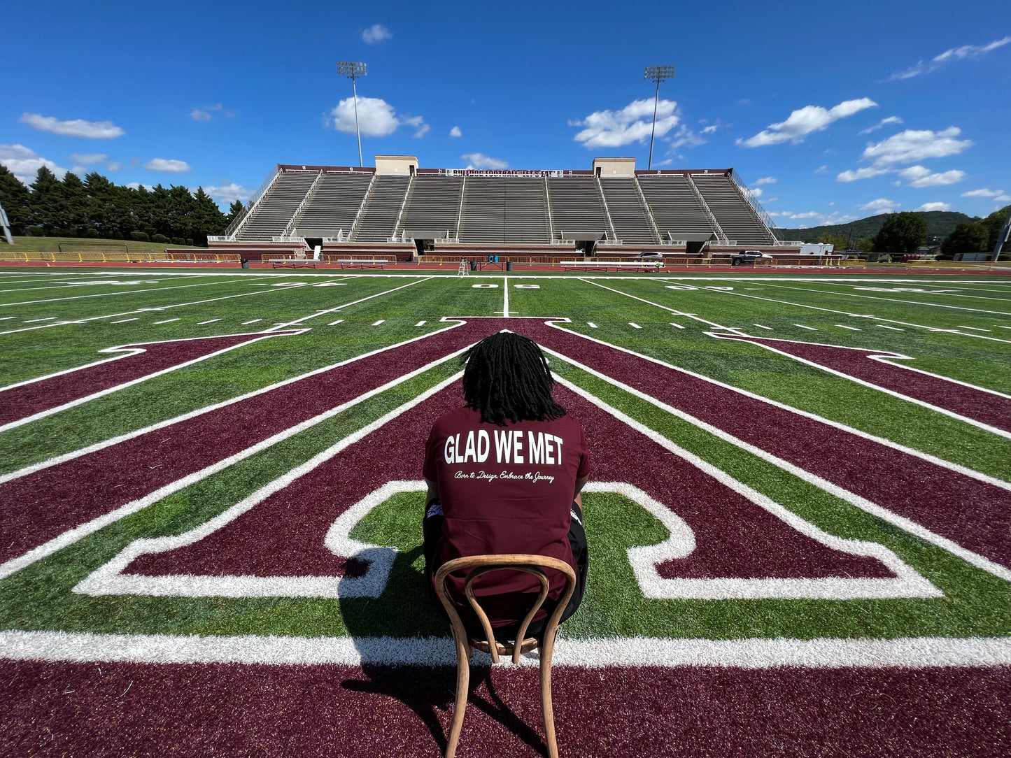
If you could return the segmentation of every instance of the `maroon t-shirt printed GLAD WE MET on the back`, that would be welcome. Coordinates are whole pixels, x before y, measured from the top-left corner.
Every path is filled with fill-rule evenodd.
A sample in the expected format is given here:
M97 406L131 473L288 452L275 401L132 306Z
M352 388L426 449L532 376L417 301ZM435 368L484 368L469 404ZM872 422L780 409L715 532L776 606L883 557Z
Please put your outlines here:
M576 479L589 474L582 427L571 415L507 424L482 423L478 411L464 407L432 427L423 474L439 483L446 518L438 563L529 553L558 558L575 569L568 542L572 498ZM564 577L556 572L549 577L551 596L557 598ZM450 578L459 598L463 582ZM474 594L493 626L522 619L539 589L535 577L515 571L496 571L474 582ZM516 595L530 592L533 597Z

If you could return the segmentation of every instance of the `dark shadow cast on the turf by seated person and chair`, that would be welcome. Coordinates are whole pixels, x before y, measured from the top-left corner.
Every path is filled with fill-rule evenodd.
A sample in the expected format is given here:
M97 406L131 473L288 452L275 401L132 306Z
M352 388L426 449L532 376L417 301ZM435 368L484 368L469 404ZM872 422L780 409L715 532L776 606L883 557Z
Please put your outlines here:
M455 653L449 623L437 611L429 594L421 545L397 554L386 588L378 598L341 597L340 605L348 634L363 659L363 678L345 679L341 687L400 700L432 733L439 752L445 752L456 692ZM417 665L372 662L382 657L386 645L408 647L400 642L403 638L415 638L421 643ZM434 659L426 659L433 651ZM547 755L547 746L537 730L524 723L498 695L490 675L490 659L477 654L474 660L477 665L471 663L468 710L476 707L531 748ZM484 688L479 692L482 684Z

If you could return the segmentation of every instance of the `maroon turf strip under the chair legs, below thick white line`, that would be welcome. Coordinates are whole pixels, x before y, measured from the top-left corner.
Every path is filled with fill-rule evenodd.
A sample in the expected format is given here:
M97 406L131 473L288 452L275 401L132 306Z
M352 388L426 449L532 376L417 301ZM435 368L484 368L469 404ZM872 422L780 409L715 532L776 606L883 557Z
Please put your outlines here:
M0 663L4 756L398 756L446 745L451 668ZM563 756L999 758L1011 668L558 668ZM474 669L459 755L546 753L536 669Z

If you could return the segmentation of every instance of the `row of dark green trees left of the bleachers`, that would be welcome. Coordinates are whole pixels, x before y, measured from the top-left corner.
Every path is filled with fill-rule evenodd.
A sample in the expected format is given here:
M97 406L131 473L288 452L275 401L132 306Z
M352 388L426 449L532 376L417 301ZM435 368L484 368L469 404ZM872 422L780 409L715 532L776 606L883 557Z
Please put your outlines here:
M97 171L84 179L68 171L61 181L44 166L25 187L0 165L0 204L17 235L199 247L206 247L208 235L222 233L244 210L242 201L236 200L228 213L222 213L202 187L193 193L183 186L126 187Z

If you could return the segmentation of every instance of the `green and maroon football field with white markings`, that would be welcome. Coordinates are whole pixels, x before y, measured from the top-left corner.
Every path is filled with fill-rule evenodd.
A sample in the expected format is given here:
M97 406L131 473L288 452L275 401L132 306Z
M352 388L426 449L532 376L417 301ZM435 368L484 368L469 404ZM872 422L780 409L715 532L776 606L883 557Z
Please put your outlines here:
M423 447L501 329L590 446L563 756L1011 753L1011 278L7 268L0 755L440 755ZM472 686L545 754L536 656Z

